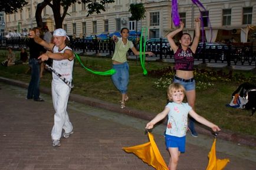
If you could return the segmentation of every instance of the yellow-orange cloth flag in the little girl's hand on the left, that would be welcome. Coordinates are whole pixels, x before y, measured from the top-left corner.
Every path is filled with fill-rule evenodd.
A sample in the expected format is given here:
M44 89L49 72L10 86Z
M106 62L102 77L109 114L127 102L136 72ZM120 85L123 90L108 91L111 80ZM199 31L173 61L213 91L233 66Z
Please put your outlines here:
M156 146L153 135L149 134L149 142L142 145L136 145L128 148L123 148L126 152L132 152L138 156L146 164L153 166L156 170L168 170L168 167L163 160L162 155L159 152L159 149Z

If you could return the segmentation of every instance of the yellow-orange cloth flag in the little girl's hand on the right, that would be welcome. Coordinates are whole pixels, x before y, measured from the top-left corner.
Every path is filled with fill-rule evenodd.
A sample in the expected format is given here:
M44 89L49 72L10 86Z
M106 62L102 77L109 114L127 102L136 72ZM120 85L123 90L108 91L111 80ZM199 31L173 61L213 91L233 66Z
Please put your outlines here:
M229 159L217 159L216 158L216 138L212 144L211 151L208 154L209 163L206 170L222 170L228 164Z

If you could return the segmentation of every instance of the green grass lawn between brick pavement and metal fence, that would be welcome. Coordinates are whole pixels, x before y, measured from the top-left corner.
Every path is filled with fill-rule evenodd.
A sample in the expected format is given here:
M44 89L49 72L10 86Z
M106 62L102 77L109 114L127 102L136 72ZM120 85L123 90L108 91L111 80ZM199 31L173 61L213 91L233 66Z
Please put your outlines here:
M5 59L4 51L0 51L0 61ZM83 64L95 71L107 71L111 69L110 58L81 57ZM156 115L166 105L166 89L156 88L155 81L159 78L144 76L139 62L129 61L130 82L129 102L127 106L148 111L148 114ZM148 71L172 66L170 63L146 62ZM0 66L0 76L29 82L30 75L25 74L28 65ZM250 71L234 71L234 74L242 74L245 77L255 76ZM107 102L119 104L120 94L114 88L110 76L94 75L87 72L76 61L74 65L73 94L79 94ZM51 73L44 72L40 81L41 86L51 87ZM196 90L196 112L209 121L214 122L223 129L228 129L239 134L256 136L256 114L250 116L251 111L228 108L225 104L231 101L232 92L237 89L239 82L214 82L214 87Z

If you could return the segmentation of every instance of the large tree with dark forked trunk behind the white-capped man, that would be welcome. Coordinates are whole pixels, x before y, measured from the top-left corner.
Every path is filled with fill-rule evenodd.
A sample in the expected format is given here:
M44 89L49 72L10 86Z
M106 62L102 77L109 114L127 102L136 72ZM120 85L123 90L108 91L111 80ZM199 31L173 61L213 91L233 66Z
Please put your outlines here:
M62 28L64 18L67 14L68 7L74 3L84 3L87 4L88 14L87 16L96 12L100 14L101 11L105 11L105 5L114 2L114 0L101 0L97 2L96 0L44 0L37 5L37 10L35 12L35 18L37 25L42 27L42 10L45 6L50 6L53 12L55 28ZM61 15L61 7L63 7L63 14Z

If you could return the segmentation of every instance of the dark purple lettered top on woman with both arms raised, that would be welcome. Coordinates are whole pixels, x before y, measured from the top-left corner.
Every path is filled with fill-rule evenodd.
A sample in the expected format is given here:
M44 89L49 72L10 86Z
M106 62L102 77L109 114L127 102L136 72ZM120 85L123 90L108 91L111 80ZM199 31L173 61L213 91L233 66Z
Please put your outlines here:
M190 48L186 51L183 51L182 48L178 48L178 50L174 54L174 69L175 70L184 70L184 71L193 71L194 57L193 52Z

